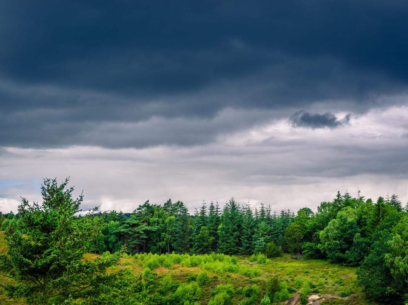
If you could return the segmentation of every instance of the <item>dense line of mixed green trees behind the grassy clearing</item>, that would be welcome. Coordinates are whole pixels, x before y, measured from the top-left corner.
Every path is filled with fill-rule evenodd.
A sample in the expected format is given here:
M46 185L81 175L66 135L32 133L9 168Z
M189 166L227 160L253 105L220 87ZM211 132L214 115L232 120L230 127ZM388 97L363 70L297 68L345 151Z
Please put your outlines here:
M0 228L9 230L9 236L14 236L13 230L23 228L25 222L26 229L20 231L18 239L20 243L23 241L21 236L38 234L45 230L44 224L58 223L58 217L53 218L51 212L62 199L48 194L49 189L62 193L62 198L71 198L72 190L63 192L67 181L60 187L55 180L45 182L43 197L49 212L44 214L44 208L29 206L23 201L18 214L0 216ZM75 230L71 229L75 234L93 228L92 234L84 235L83 252L262 253L269 257L287 252L297 258L327 259L333 263L359 266L357 280L370 299L391 302L408 294L408 203L403 208L395 194L373 201L361 196L360 191L357 198L348 191L344 194L338 191L333 201L320 203L316 212L302 208L296 214L290 210L277 213L263 203L259 209L252 209L249 204L242 206L231 198L222 208L217 202L207 204L203 201L193 215L188 213L185 203L169 199L163 205L146 201L129 214L93 211L80 216L78 206L81 201L82 197L75 201L78 203L69 217L81 224L80 227L74 225ZM71 199L68 202L73 203ZM63 208L67 207L68 203ZM29 220L27 211L31 212ZM36 223L33 232L27 229L27 221ZM13 244L16 243L14 240ZM117 259L115 256L110 263Z

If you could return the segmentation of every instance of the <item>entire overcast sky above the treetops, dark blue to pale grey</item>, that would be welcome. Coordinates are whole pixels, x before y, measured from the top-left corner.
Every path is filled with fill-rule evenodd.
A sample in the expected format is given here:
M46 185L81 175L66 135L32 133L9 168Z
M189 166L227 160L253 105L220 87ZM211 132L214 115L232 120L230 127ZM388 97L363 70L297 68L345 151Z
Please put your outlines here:
M408 2L3 1L0 211L408 201Z

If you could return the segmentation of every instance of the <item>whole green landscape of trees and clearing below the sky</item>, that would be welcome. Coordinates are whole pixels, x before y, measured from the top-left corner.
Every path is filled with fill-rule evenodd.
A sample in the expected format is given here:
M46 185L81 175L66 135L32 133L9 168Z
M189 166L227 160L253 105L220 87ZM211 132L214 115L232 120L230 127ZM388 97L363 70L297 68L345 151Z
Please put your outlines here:
M317 210L232 197L82 212L69 180L1 214L7 304L404 304L408 203L346 190Z

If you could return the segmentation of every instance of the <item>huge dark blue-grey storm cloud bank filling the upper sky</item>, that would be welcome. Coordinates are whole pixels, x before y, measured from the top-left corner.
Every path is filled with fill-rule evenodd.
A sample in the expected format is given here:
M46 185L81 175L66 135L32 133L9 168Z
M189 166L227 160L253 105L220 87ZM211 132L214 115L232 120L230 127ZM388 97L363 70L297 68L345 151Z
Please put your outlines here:
M385 107L407 88L407 14L403 1L2 2L0 144L188 146L256 121L217 122L226 108Z

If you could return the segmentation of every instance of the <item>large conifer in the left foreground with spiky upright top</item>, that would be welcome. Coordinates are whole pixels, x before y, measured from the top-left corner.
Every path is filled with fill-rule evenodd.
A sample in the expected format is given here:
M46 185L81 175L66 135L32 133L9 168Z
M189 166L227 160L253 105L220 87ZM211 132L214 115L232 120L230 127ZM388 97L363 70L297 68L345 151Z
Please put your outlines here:
M62 304L87 299L96 303L109 290L118 274L106 268L120 259L121 252L95 261L84 261L87 243L99 236L100 222L92 222L92 212L80 212L82 194L72 198L68 179L44 179L43 202L30 205L23 198L18 206L20 222L7 230L10 262L16 284L8 287L10 296L24 296L30 304Z

